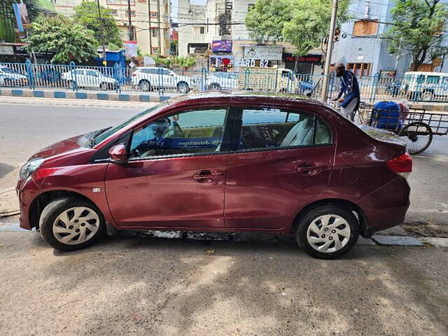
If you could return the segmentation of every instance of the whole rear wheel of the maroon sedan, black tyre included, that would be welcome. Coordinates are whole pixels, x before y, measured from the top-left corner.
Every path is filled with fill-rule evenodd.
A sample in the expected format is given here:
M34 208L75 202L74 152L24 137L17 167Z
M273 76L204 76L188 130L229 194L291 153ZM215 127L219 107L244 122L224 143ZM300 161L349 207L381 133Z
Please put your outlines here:
M343 207L316 207L297 221L297 244L313 258L339 258L355 246L359 237L356 217Z

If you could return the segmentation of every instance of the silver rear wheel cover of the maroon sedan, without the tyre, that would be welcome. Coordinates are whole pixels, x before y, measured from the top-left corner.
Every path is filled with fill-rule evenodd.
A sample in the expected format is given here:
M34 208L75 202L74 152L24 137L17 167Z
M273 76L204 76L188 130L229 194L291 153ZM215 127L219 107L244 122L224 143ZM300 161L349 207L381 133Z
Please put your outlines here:
M307 241L316 251L334 253L349 242L350 225L341 216L329 214L311 221L307 230Z

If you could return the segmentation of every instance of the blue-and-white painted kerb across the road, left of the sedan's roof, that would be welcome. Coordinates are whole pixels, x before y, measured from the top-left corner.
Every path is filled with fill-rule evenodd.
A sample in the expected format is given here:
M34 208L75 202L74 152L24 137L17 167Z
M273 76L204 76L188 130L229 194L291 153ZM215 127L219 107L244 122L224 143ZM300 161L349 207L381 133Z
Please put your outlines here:
M171 96L159 94L132 94L116 92L74 92L74 91L53 91L53 90L29 90L25 88L1 88L0 96L4 97L36 97L36 98L57 98L57 99L92 99L111 102L165 102Z

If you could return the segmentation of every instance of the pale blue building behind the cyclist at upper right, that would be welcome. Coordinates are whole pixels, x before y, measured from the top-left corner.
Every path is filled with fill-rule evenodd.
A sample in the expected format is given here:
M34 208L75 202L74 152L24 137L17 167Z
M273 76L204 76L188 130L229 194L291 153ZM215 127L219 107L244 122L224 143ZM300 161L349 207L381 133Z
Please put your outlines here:
M444 2L448 2L444 0ZM332 53L333 64L342 62L359 76L402 76L409 71L409 55L391 55L388 42L382 34L390 27L394 0L353 0L349 15L353 20L342 25ZM428 62L421 71L448 71L443 59Z

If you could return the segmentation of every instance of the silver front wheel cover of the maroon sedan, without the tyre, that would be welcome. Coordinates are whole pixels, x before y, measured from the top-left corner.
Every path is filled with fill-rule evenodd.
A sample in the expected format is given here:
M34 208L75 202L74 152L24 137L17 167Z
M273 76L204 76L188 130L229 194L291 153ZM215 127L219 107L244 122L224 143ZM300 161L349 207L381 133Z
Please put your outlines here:
M55 238L63 244L83 244L99 230L99 216L87 207L73 207L63 211L52 225Z

